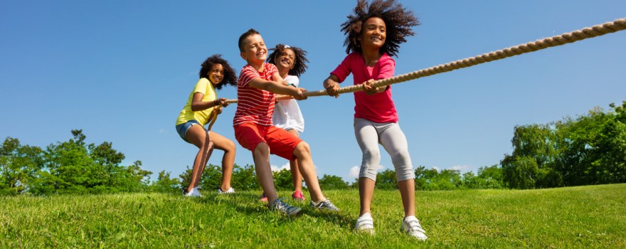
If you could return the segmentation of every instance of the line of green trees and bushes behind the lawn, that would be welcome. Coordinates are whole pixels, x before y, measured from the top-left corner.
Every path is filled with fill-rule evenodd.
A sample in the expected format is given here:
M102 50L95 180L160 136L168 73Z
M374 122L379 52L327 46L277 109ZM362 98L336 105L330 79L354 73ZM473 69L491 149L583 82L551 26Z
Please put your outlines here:
M626 182L626 101L610 110L595 107L586 115L566 117L548 124L516 126L511 139L513 152L500 164L480 167L477 174L458 170L415 169L416 190L453 189L536 189L589 184ZM22 145L7 137L0 145L0 195L15 194L104 194L120 192L176 192L188 186L191 169L178 177L151 171L141 161L121 165L124 154L112 143L86 144L80 129L71 131L67 142L50 144L45 149ZM287 169L275 171L277 190L293 189ZM201 178L204 189L221 184L221 167L208 164ZM322 189L358 188L339 176L324 174ZM254 166L233 169L233 188L259 190ZM377 189L397 189L396 173L391 169L376 176Z

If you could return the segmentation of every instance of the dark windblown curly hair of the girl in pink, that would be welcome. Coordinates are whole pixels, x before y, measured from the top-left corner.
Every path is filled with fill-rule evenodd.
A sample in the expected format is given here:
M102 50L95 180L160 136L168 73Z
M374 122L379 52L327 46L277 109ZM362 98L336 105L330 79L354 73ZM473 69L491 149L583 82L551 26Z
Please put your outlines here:
M387 26L386 41L381 47L381 53L390 56L398 54L400 43L406 41L405 37L413 36L415 33L411 27L420 25L418 18L413 15L413 11L405 9L396 0L373 0L367 4L367 0L359 0L354 7L354 14L348 17L348 21L341 23L341 31L346 35L344 46L346 53L351 51L363 53L361 48L361 26L372 17L383 19Z

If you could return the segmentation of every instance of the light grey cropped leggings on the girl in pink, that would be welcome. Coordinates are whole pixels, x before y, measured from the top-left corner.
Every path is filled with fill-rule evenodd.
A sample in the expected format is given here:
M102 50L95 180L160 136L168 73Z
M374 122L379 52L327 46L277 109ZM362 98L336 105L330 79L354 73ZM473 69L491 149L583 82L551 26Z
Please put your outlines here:
M391 156L396 168L397 181L415 179L413 165L408 155L406 137L398 123L377 123L362 118L354 119L354 135L363 152L359 178L367 177L376 181L376 170L381 164L381 152L378 144L382 144Z

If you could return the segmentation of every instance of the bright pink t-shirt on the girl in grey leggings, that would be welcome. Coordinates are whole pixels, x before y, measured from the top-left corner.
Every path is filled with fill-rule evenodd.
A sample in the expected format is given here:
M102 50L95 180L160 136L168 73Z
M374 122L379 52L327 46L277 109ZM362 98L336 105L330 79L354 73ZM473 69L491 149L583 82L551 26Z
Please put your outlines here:
M396 68L396 60L384 53L373 67L365 65L361 53L350 53L344 61L332 71L332 75L343 82L350 73L354 78L354 85L360 85L367 80L391 78ZM391 85L383 92L367 95L364 91L354 92L354 117L364 118L372 122L398 122L396 105L391 100Z

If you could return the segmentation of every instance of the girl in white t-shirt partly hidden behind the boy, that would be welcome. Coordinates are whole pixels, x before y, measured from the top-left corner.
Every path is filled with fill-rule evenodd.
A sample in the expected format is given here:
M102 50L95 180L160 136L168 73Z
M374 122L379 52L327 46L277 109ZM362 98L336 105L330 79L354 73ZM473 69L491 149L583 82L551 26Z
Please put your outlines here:
M307 51L304 51L302 48L282 44L278 44L271 50L273 52L267 56L266 62L276 65L278 74L285 80L283 83L297 88L299 84L298 77L307 70L307 62L309 62L306 58ZM302 117L302 112L300 112L298 102L294 99L278 100L272 116L272 122L276 127L285 129L295 137L299 137L298 132L304 132L304 118ZM289 166L294 184L294 193L291 197L296 201L304 201L304 195L302 195L302 175L298 171L298 162L291 160L289 161ZM265 193L261 197L261 201L267 201Z

